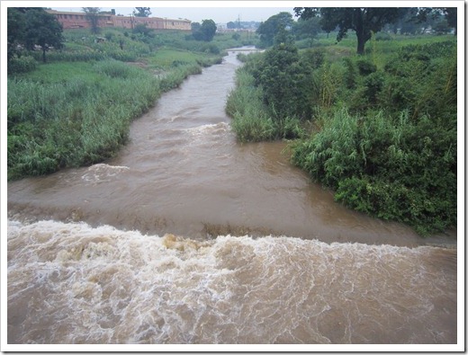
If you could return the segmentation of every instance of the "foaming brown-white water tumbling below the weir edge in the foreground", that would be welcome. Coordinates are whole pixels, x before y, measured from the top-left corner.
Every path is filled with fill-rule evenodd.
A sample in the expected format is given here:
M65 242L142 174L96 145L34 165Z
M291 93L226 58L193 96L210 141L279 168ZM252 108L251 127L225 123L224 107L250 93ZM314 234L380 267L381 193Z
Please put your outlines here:
M9 343L456 342L456 251L8 221Z

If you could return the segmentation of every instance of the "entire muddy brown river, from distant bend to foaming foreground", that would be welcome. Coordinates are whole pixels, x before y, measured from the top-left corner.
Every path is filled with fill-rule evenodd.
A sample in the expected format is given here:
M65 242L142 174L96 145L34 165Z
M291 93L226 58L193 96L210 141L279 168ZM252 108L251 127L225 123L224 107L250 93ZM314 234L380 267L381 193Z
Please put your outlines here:
M9 343L457 341L456 231L365 217L284 142L238 144L238 66L164 94L112 160L8 182Z

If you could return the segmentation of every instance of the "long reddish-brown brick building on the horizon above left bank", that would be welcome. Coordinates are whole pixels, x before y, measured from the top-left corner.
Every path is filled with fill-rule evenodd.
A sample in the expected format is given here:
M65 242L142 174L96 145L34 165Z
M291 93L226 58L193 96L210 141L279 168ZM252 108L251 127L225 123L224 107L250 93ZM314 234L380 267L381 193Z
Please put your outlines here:
M53 14L58 22L67 29L89 29L91 24L87 21L85 13L72 13L56 10L46 10ZM191 21L183 19L163 19L161 17L136 17L136 16L116 16L112 13L99 13L98 27L120 27L124 29L133 29L138 24L145 24L148 29L154 30L181 30L191 31Z

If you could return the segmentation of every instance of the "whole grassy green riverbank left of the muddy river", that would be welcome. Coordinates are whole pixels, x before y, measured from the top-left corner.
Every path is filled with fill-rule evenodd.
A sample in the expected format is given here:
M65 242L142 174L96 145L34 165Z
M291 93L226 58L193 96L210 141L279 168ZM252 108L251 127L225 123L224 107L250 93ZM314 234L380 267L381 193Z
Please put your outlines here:
M102 43L85 30L64 35L65 49L49 52L48 63L30 56L12 63L9 180L111 157L127 141L131 120L161 93L220 63L223 49L246 40L221 35L201 43L181 31L145 37L117 29L105 30Z

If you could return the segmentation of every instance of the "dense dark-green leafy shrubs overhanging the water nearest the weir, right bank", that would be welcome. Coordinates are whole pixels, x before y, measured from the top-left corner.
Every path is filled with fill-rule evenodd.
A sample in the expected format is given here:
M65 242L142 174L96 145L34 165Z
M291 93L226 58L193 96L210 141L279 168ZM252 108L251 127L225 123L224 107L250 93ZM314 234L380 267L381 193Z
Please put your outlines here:
M447 124L448 123L448 124ZM351 116L342 109L293 148L293 163L352 209L414 226L421 235L456 224L456 124L402 112Z

